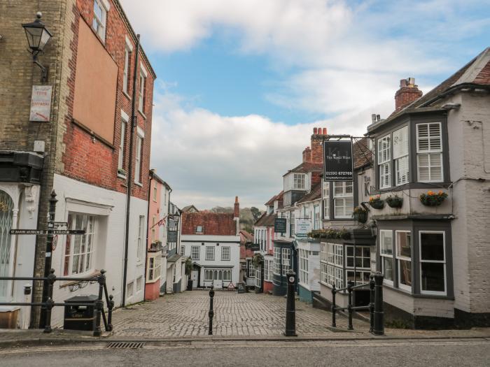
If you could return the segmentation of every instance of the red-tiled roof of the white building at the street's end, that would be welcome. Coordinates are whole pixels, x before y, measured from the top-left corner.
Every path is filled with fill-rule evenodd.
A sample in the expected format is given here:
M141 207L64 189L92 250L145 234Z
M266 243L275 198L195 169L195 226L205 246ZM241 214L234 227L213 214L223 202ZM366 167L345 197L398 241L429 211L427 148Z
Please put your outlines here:
M182 234L235 236L237 224L233 213L212 213L203 210L197 213L182 213ZM196 233L196 227L202 226L202 233Z

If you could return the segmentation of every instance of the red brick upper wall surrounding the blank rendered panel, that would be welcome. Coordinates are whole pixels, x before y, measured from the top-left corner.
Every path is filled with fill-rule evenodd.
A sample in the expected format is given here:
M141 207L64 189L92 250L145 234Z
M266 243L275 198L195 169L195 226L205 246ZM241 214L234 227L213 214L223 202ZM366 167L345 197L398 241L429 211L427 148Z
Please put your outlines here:
M76 78L76 55L78 45L78 22L87 22L91 25L94 17L93 14L93 0L77 0L76 7L73 8L75 14L75 21L72 24L73 41L71 42L71 51L73 52L72 58L69 61L69 69L71 76L69 78L70 96L66 103L69 106L69 113L66 115L66 134L64 136L65 152L62 157L64 163L63 175L70 178L87 182L90 185L97 185L106 189L115 190L125 193L125 182L123 178L118 178L118 147L120 145L120 129L121 129L121 110L124 110L127 115L131 116L131 99L123 93L123 73L125 62L125 38L128 36L133 44L133 52L130 57L130 76L128 83L128 92L132 96L132 78L134 69L134 59L136 56L136 44L132 39L132 33L127 28L125 20L120 15L118 7L111 1L111 8L107 14L106 20L106 37L105 41L101 44L109 55L113 58L114 62L118 65L118 88L116 95L116 117L114 121L114 143L113 147L99 140L97 137L92 136L84 129L78 127L71 122L73 113L73 100L74 96L74 83ZM137 113L137 124L144 130L144 145L143 153L141 155L141 183L142 187L138 185L132 185L132 195L137 196L140 199L148 200L149 192L149 177L148 171L150 169L150 150L151 150L151 119L153 108L153 82L154 78L151 73L151 66L146 63L144 57L139 57L139 62L144 64L148 71L148 78L146 80L146 102L145 102L145 114L146 118ZM139 70L139 68L138 68ZM139 73L139 71L138 71ZM137 78L137 90L139 91L139 78ZM137 93L137 99L139 94ZM83 124L83 122L81 122ZM126 131L125 141L125 162L123 164L125 171L128 171L128 157L130 146L130 124L128 124ZM134 151L133 151L133 164L136 157L136 129L134 131ZM134 173L134 169L133 169Z

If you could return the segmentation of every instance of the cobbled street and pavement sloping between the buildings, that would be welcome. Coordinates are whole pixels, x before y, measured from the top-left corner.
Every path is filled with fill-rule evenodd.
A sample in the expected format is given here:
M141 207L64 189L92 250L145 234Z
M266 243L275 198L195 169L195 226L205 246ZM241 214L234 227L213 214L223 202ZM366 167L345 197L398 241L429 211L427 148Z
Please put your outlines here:
M120 308L113 313L114 331L94 338L87 331L54 329L2 330L0 348L13 345L97 343L118 340L147 342L214 342L269 340L396 340L436 338L489 338L490 328L470 330L421 331L385 329L385 336L369 333L369 324L353 319L353 331L347 330L346 317L337 317L337 328L330 327L331 313L296 301L297 337L283 336L286 298L269 294L237 294L218 291L214 297L213 336L208 335L209 292L192 291L169 294L152 302Z

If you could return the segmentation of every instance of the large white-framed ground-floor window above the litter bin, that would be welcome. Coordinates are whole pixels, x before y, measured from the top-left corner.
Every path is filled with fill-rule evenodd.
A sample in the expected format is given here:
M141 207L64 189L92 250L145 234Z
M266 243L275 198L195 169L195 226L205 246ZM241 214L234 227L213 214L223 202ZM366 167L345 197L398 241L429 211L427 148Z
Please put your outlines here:
M66 236L63 275L75 275L94 270L93 254L97 245L97 217L69 213L68 229L82 229L85 234Z

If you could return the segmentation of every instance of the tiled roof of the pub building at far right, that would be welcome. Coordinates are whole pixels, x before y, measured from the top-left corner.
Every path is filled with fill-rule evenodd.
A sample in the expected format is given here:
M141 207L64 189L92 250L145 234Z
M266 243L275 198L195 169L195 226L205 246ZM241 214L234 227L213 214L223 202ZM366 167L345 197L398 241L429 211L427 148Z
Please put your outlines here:
M490 47L483 50L477 57L441 82L440 85L437 85L437 87L430 90L427 94L416 99L400 111L392 113L387 119L368 126L367 131L374 131L378 127L407 113L423 113L442 110L442 106L437 104L437 99L451 89L458 89L459 87L465 87L466 85L473 87L478 85L484 87L490 86Z

